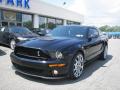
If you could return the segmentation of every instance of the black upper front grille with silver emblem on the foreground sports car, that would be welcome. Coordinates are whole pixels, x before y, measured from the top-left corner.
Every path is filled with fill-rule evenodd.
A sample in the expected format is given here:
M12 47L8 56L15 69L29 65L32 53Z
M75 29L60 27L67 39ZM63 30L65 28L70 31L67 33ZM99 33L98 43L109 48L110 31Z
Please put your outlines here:
M22 58L33 58L33 59L48 59L50 56L46 53L44 53L40 49L35 48L28 48L28 47L20 47L17 46L15 48L15 54Z

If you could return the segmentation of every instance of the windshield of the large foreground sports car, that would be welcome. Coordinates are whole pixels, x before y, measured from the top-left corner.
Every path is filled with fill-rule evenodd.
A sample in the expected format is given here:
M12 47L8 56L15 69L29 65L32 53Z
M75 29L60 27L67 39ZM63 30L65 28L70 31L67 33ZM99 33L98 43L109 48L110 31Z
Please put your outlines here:
M49 35L54 37L86 38L87 28L80 26L62 26L53 29Z

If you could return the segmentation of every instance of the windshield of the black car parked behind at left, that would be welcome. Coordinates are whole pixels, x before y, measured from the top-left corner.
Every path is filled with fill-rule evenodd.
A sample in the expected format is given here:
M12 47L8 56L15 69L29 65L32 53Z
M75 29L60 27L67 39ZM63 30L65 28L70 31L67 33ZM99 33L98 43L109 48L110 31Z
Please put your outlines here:
M32 34L32 32L24 27L12 27L10 28L10 32L17 34Z

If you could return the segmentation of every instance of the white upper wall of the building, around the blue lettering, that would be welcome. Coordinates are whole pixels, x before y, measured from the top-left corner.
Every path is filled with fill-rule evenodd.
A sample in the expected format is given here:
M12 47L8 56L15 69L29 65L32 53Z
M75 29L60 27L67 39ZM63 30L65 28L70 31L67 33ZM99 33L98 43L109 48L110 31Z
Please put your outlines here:
M16 2L16 0L14 1ZM37 14L37 15L51 16L51 17L56 17L56 18L71 20L76 22L83 22L84 20L83 16L78 13L44 3L40 0L30 0L30 9L16 7L16 5L14 6L6 5L5 2L0 4L0 8L15 10L15 11L22 11L22 12Z

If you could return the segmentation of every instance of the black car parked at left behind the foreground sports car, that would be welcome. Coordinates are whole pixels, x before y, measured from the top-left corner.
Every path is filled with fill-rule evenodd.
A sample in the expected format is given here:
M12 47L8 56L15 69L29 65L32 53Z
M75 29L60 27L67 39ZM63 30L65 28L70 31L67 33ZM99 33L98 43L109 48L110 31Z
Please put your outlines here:
M14 49L17 42L38 37L25 27L3 27L0 29L0 43L9 45Z

